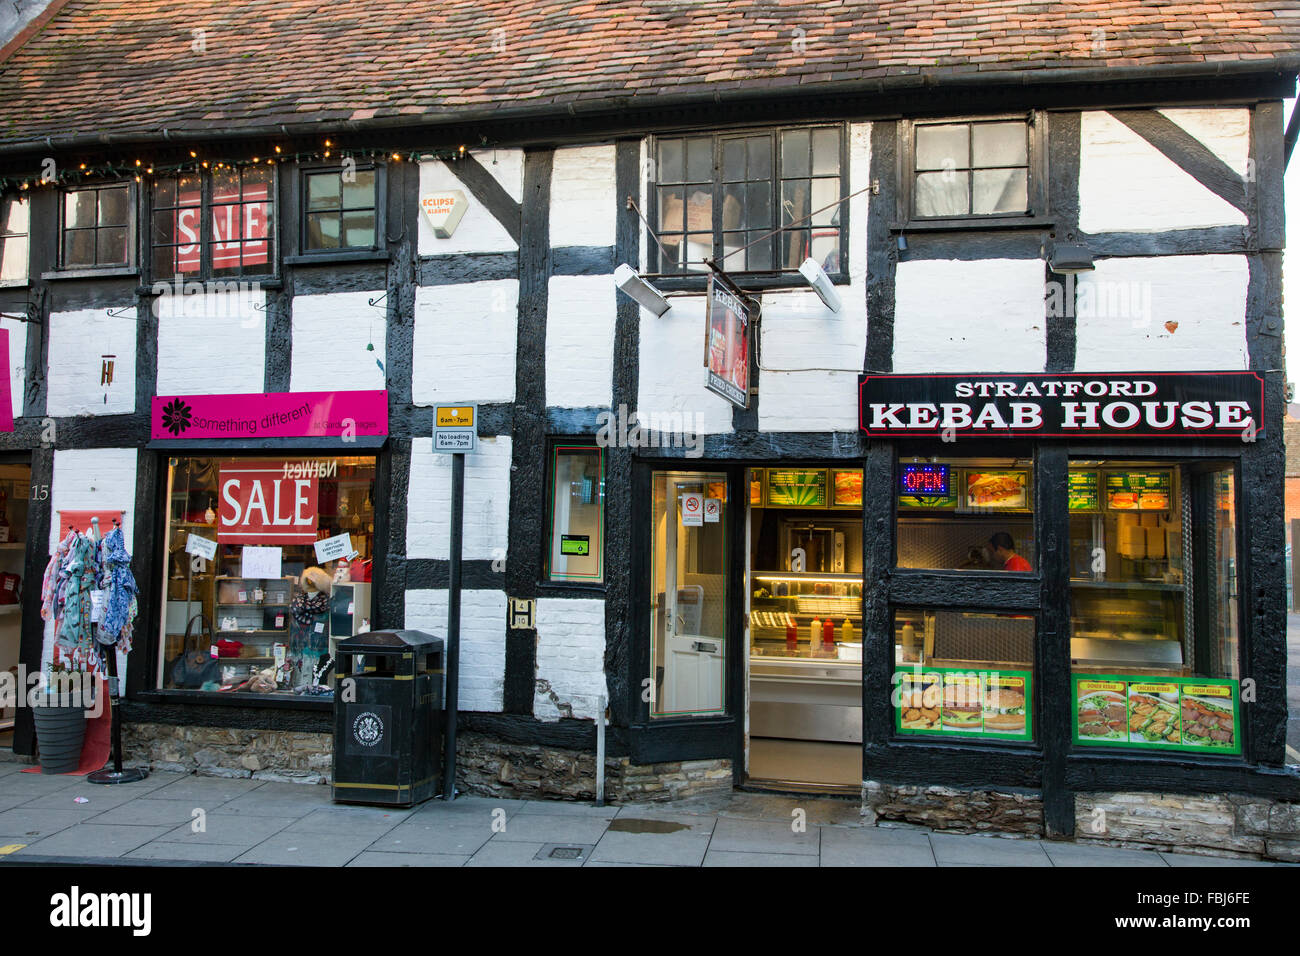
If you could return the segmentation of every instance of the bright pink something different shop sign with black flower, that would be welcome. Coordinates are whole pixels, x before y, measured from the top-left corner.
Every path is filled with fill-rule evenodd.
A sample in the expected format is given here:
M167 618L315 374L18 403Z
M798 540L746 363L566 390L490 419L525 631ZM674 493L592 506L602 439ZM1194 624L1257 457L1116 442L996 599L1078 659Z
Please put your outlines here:
M159 395L153 438L330 438L389 433L389 393Z

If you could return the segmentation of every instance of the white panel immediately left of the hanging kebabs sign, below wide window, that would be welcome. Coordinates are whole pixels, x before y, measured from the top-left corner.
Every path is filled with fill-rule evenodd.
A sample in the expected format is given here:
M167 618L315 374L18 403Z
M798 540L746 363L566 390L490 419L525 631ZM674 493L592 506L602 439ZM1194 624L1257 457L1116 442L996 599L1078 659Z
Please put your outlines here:
M680 420L697 434L732 431L732 405L705 388L705 297L675 295L672 308L641 316L637 416Z

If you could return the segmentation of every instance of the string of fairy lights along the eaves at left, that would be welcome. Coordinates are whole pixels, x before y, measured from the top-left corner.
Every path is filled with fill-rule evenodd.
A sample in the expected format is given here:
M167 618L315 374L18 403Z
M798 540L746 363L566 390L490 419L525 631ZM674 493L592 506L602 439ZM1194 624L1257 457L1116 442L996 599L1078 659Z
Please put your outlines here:
M484 146L488 146L484 143ZM116 163L77 163L58 164L55 160L46 160L42 169L27 173L5 173L0 176L0 193L30 193L43 187L64 187L101 183L105 181L146 182L147 179L168 178L174 176L198 174L211 170L247 169L250 166L274 166L282 163L318 163L324 160L337 160L346 163L373 163L384 160L387 163L420 163L430 160L456 161L464 159L467 147L459 146L454 150L381 150L381 148L339 148L332 139L326 139L324 146L316 150L298 150L286 152L283 147L273 146L269 152L251 153L243 159L231 156L207 156L200 150L187 150L188 159L179 161L155 163L146 159L121 159Z

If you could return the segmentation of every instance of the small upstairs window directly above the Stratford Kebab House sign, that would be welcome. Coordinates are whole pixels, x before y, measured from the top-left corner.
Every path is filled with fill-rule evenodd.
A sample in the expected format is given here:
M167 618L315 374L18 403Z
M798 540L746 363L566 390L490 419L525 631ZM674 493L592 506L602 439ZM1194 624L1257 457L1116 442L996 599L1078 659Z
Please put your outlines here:
M1030 215L1037 186L1032 131L1026 118L914 124L910 217Z

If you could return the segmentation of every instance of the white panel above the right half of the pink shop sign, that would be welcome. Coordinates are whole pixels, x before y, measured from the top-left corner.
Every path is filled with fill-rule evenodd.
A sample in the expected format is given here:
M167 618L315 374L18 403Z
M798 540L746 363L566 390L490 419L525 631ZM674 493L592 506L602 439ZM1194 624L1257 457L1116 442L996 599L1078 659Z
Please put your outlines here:
M294 349L290 392L384 389L387 376L385 303L367 304L373 293L294 297ZM367 349L373 345L374 350Z

